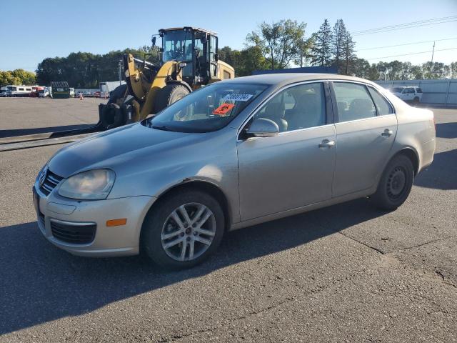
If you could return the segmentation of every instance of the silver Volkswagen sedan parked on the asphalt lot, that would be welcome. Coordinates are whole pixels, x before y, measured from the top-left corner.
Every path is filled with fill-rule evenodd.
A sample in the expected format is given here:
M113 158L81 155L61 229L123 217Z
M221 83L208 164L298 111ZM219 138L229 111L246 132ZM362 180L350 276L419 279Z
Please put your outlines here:
M65 146L34 204L46 239L72 254L184 268L226 230L361 197L396 209L434 151L433 113L370 81L247 76Z

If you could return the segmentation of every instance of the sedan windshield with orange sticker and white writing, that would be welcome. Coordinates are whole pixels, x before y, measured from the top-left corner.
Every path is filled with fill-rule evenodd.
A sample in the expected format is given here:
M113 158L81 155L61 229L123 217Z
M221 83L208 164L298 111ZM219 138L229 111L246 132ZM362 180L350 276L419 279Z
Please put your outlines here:
M194 91L143 121L153 129L179 132L216 131L238 116L266 89L258 84L211 84Z

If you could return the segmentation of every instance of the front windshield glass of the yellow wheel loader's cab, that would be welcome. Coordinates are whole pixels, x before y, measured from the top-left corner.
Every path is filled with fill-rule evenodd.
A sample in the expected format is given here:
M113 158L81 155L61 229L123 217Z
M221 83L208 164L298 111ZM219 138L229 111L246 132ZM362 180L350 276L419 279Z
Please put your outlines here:
M192 33L184 30L164 31L164 62L192 60Z

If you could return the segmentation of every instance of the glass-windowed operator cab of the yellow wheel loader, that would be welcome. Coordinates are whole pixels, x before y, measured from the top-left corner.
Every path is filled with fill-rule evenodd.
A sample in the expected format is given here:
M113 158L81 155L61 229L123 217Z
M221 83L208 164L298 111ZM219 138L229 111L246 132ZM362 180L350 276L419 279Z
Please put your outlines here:
M183 27L161 29L162 61L182 62L183 80L191 86L208 84L217 76L216 34L203 29Z

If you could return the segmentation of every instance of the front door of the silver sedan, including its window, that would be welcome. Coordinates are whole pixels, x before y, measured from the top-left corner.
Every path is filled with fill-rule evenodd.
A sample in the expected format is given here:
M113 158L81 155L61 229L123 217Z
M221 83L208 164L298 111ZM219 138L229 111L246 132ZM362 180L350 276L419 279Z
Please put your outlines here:
M336 134L326 119L323 84L279 92L257 118L275 121L280 132L238 141L241 220L330 199Z

